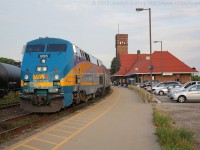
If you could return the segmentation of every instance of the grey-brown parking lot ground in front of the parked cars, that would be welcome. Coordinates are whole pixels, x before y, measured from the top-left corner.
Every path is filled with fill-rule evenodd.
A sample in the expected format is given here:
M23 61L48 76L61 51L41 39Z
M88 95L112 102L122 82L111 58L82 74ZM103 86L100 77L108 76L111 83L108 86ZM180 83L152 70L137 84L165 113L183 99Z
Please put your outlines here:
M171 101L166 95L157 96L161 103L155 107L167 112L173 118L173 125L184 127L194 132L197 149L200 149L200 100L178 103Z

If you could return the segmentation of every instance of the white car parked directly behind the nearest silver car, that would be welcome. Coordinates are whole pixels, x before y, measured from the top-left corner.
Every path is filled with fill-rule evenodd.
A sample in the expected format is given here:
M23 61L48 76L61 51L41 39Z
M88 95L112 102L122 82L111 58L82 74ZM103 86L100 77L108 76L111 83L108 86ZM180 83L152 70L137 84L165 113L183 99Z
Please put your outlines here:
M167 96L168 96L169 98L171 98L173 93L182 91L182 90L184 90L184 89L190 87L191 85L196 85L196 84L200 84L200 81L190 81L190 82L186 82L186 83L185 83L184 85L182 85L180 88L172 88L172 89L169 89L168 92L167 92Z

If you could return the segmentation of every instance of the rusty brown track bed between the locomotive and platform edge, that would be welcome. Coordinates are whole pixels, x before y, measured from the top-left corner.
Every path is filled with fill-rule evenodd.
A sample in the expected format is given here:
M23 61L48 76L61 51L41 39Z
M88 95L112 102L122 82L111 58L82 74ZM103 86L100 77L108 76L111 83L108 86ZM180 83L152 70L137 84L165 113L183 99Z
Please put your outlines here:
M104 97L95 98L82 103L80 105L71 106L67 109L63 109L57 113L52 114L25 114L15 118L7 119L0 122L0 144L24 134L27 131L44 126L50 122L53 122L61 117L72 114L78 110L81 110L87 106L92 105L95 102L102 100Z

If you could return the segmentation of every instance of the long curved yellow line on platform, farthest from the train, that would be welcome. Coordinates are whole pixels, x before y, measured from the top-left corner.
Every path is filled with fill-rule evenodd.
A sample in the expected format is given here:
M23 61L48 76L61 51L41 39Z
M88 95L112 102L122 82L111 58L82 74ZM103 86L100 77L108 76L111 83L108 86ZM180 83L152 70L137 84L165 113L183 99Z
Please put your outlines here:
M69 141L70 139L72 139L74 136L76 136L77 134L81 133L83 130L85 130L86 128L88 128L89 126L91 126L93 123L95 123L98 119L100 119L102 116L104 116L107 112L109 112L119 101L120 99L120 95L117 98L117 100L115 101L115 103L113 105L111 105L108 109L106 109L104 112L102 112L102 114L100 114L98 117L96 117L94 120L92 120L90 123L88 123L86 126L82 127L80 130L76 131L74 134L72 134L71 136L69 136L68 138L66 138L65 140L63 140L62 142L60 142L59 144L57 144L55 147L53 147L52 150L57 150L59 147L61 147L63 144L65 144L67 141Z

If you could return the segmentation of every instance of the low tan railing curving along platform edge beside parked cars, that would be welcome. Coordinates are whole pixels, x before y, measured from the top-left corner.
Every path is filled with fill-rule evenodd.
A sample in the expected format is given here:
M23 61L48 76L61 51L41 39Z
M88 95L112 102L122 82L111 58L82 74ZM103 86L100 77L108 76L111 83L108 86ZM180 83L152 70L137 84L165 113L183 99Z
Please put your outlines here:
M137 92L142 97L145 103L153 102L154 95L150 94L145 89L134 86L134 85L129 85L128 88Z

